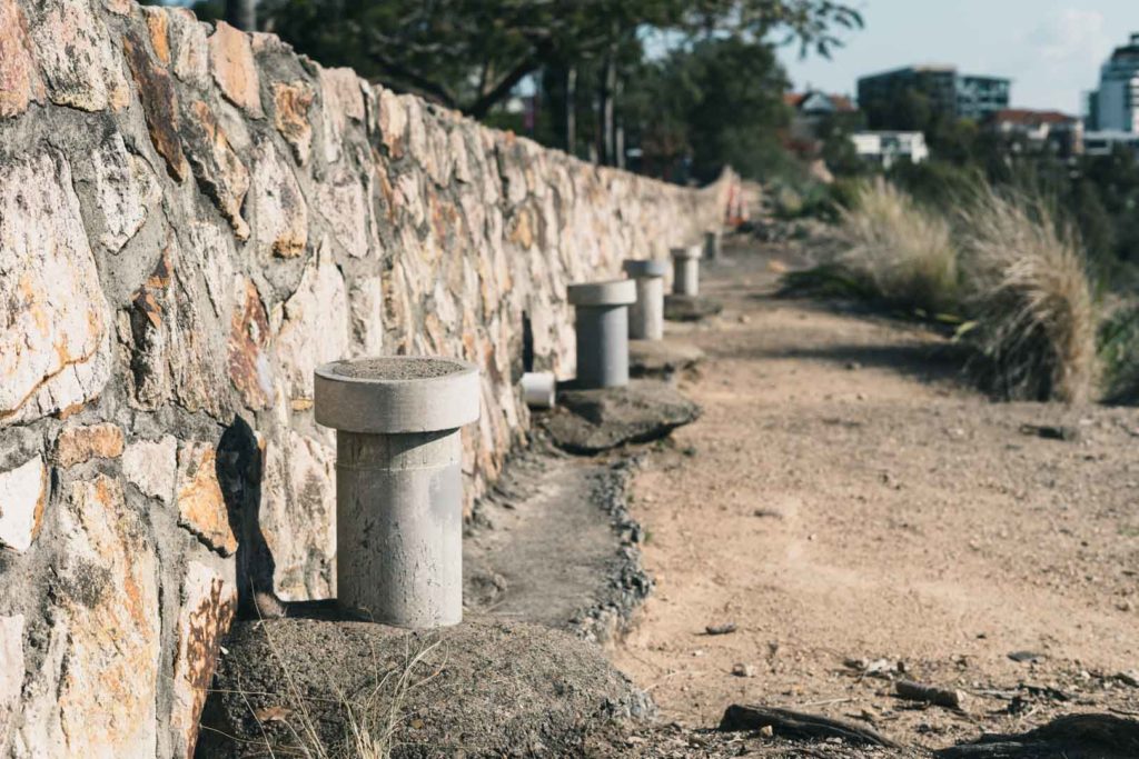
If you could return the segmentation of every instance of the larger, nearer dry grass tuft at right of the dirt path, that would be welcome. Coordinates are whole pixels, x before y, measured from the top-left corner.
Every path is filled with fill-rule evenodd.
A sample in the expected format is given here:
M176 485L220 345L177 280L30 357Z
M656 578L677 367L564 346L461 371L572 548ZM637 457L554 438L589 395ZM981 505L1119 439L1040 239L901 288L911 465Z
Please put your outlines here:
M1071 231L1042 201L988 189L962 212L960 242L986 385L1010 399L1087 401L1096 314Z

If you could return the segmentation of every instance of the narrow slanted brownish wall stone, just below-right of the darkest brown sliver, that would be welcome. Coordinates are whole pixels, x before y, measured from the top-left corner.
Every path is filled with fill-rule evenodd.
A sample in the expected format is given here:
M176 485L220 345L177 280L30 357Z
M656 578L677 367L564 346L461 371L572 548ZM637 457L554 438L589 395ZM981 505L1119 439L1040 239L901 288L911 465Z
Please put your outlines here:
M249 225L241 218L241 203L249 190L249 172L238 158L213 112L202 100L186 109L182 137L194 176L197 178L239 240L248 239Z

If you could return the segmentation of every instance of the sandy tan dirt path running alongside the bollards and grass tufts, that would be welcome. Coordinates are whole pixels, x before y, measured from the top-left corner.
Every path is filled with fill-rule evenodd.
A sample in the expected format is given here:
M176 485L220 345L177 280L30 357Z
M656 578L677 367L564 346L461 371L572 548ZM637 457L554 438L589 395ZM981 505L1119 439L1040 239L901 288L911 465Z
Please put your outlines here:
M723 316L670 337L708 354L681 386L705 414L633 487L657 589L614 658L662 717L760 702L942 746L1139 712L1116 677L1139 670L1139 413L990 403L936 336L773 299L736 253L705 280ZM917 708L853 659L977 695Z

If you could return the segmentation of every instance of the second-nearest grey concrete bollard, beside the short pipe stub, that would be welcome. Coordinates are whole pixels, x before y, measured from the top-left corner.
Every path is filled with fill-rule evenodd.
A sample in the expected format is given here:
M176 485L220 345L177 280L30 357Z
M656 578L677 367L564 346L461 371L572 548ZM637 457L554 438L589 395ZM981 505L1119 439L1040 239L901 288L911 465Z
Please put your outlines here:
M577 333L577 387L629 385L629 306L637 302L632 280L570 286Z

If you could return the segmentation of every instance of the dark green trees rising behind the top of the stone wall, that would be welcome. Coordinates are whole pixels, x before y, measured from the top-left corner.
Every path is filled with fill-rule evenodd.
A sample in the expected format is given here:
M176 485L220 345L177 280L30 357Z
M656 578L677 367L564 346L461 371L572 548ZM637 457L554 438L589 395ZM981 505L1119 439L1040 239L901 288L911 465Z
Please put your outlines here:
M770 101L786 86L772 76L771 44L826 56L841 30L862 23L834 0L261 0L259 16L262 28L325 65L491 123L533 76L547 97L539 139L623 165L622 137L644 132L657 155L690 154L702 176L732 150L745 163L753 148L770 150L754 131L773 123ZM647 60L647 30L669 40L670 71ZM686 56L694 60L681 64ZM683 81L683 102L662 89L670 76ZM749 89L762 86L778 91ZM646 88L659 107L649 107ZM734 116L731 99L759 119ZM735 132L708 123L694 102L729 116Z

